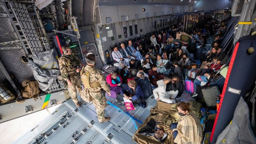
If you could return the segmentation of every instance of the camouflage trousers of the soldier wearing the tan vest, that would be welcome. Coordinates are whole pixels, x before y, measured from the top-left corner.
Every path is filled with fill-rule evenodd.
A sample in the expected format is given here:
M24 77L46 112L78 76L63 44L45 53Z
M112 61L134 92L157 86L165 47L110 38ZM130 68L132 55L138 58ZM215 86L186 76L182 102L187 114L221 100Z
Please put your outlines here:
M105 118L105 108L107 106L107 99L102 96L100 92L89 92L92 97L92 103L96 109L99 121L103 121Z

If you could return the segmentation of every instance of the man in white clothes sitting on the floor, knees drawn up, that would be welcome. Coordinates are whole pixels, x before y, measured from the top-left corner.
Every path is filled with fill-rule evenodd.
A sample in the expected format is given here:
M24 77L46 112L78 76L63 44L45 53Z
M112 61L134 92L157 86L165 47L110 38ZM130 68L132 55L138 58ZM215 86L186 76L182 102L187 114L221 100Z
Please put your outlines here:
M158 87L153 90L153 94L156 100L161 100L162 102L166 102L166 103L176 102L174 99L178 95L179 91L176 90L174 92L174 90L172 90L172 91L166 92L166 84L169 83L170 81L171 81L171 78L167 76L164 77L164 80L157 81ZM172 81L172 83L175 83L175 82Z

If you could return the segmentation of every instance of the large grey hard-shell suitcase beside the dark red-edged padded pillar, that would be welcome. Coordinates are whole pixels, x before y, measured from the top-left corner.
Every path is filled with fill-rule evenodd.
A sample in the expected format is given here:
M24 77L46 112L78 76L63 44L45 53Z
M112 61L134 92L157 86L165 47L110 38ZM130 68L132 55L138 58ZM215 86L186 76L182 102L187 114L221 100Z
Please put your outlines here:
M209 86L202 89L204 101L207 107L216 106L216 97L220 95L220 91L217 86Z

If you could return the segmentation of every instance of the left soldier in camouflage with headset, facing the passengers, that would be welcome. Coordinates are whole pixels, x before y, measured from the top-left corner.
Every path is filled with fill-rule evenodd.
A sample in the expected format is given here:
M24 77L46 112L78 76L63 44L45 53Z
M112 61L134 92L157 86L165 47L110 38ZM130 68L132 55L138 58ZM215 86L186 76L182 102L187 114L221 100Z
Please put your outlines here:
M68 82L68 92L71 99L76 104L76 107L80 107L76 91L82 95L81 78L78 75L78 72L81 71L82 63L78 57L71 54L71 49L69 46L62 46L61 49L63 54L58 59L60 65L60 73L61 76Z

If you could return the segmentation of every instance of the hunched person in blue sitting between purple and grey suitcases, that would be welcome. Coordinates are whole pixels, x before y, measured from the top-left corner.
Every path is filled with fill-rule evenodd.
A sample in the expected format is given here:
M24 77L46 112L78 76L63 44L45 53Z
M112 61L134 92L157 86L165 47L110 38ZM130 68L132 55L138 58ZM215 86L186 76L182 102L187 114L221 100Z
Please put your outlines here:
M191 97L195 98L198 95L198 93L196 93L197 85L203 86L210 80L211 80L211 76L208 73L205 73L204 76L197 76L194 81L194 93L191 94Z

